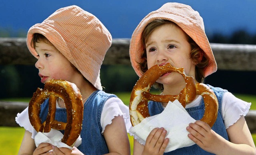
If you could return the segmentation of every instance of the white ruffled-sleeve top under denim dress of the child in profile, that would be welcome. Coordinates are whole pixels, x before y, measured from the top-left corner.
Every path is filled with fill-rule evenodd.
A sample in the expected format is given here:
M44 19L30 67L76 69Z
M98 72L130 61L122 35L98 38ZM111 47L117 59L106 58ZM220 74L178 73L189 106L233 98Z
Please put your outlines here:
M59 107L57 106L57 108ZM126 106L122 102L122 100L120 100L120 98L111 97L108 100L106 100L102 109L102 114L100 118L100 124L102 126L102 134L106 126L112 123L112 120L115 116L122 116L124 118L127 131L132 126L130 122L130 114L129 114L128 106ZM30 124L30 121L28 118L28 107L25 110L23 110L23 112L18 113L15 120L21 127L24 127L24 129L31 132L32 138L34 139L34 136L36 135L37 132Z

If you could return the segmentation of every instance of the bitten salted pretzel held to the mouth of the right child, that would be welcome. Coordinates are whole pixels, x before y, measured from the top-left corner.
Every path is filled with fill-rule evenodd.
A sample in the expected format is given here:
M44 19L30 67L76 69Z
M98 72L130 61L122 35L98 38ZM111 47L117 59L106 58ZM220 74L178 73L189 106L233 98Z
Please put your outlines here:
M180 73L184 78L186 87L180 91L180 94L163 96L149 93L154 82L156 82L159 77L169 72ZM148 100L173 102L177 99L185 108L186 103L192 102L196 98L196 95L202 95L205 104L205 112L201 121L206 122L212 127L218 114L218 100L214 92L206 84L195 84L193 77L186 76L184 68L172 67L170 63L163 66L154 65L140 77L131 92L129 110L132 126L136 126L144 120L144 118L150 116L148 112Z

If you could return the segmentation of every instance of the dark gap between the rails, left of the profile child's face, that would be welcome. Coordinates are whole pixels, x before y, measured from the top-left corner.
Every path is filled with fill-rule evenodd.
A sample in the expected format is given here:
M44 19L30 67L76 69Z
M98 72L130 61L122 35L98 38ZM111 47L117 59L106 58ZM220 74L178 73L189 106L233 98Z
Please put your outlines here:
M44 86L33 65L0 65L0 81L0 98L32 97Z

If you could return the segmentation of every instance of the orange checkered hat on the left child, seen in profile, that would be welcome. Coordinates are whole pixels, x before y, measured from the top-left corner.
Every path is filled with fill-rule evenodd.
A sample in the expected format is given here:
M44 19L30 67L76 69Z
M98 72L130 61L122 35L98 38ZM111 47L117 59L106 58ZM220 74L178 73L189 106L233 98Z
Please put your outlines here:
M111 46L112 36L98 18L78 6L68 6L30 27L27 46L38 58L30 46L34 33L44 35L87 80L102 90L100 67Z

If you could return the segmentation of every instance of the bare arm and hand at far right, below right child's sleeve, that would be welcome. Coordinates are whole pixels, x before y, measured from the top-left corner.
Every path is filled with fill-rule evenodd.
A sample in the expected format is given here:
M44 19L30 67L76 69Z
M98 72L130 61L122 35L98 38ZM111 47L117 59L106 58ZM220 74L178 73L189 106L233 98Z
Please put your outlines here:
M218 135L202 121L190 123L187 130L190 132L188 137L205 151L217 155L256 154L256 148L244 116L241 116L235 124L227 129L230 141Z

